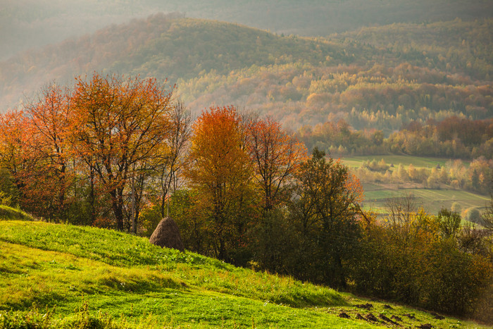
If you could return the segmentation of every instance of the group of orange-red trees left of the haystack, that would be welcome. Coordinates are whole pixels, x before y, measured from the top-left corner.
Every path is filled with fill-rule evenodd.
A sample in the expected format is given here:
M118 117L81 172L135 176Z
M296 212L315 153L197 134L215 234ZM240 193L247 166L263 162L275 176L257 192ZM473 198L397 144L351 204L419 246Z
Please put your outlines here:
M190 120L154 79L77 78L0 118L1 166L13 201L54 221L137 232L144 191L164 199Z

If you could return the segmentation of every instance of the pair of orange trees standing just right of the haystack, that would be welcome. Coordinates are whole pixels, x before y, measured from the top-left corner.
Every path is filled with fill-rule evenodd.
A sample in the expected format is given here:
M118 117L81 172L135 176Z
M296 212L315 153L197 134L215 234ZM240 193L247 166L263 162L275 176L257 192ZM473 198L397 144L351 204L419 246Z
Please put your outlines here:
M202 113L193 132L183 192L193 198L182 224L194 229L184 229L192 233L186 239L198 252L245 265L247 235L287 197L305 148L275 121L232 107Z

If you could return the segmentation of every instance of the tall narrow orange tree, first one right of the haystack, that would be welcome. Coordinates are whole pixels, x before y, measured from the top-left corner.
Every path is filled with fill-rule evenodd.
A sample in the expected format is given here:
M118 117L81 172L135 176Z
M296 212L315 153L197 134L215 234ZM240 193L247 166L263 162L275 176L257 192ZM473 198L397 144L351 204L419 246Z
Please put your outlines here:
M230 259L244 238L251 162L245 124L234 107L204 111L193 125L186 170L212 236L212 254Z

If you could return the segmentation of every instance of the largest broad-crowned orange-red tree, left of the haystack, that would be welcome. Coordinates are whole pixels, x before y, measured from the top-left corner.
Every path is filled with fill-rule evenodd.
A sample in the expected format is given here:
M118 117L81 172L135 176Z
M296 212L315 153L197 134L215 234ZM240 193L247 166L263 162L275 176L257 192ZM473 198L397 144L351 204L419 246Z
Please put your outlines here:
M173 89L155 79L94 74L77 79L71 127L75 151L99 176L118 230L124 228L129 182L154 161L169 135ZM135 217L134 217L135 218Z

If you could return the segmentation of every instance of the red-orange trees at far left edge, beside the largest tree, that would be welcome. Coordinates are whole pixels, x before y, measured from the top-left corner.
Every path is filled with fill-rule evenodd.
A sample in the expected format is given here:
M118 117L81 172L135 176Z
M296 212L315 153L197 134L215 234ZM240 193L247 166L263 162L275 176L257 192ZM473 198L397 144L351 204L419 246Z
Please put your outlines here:
M57 85L42 89L24 111L1 116L0 159L13 178L27 211L60 219L71 184L68 91Z

